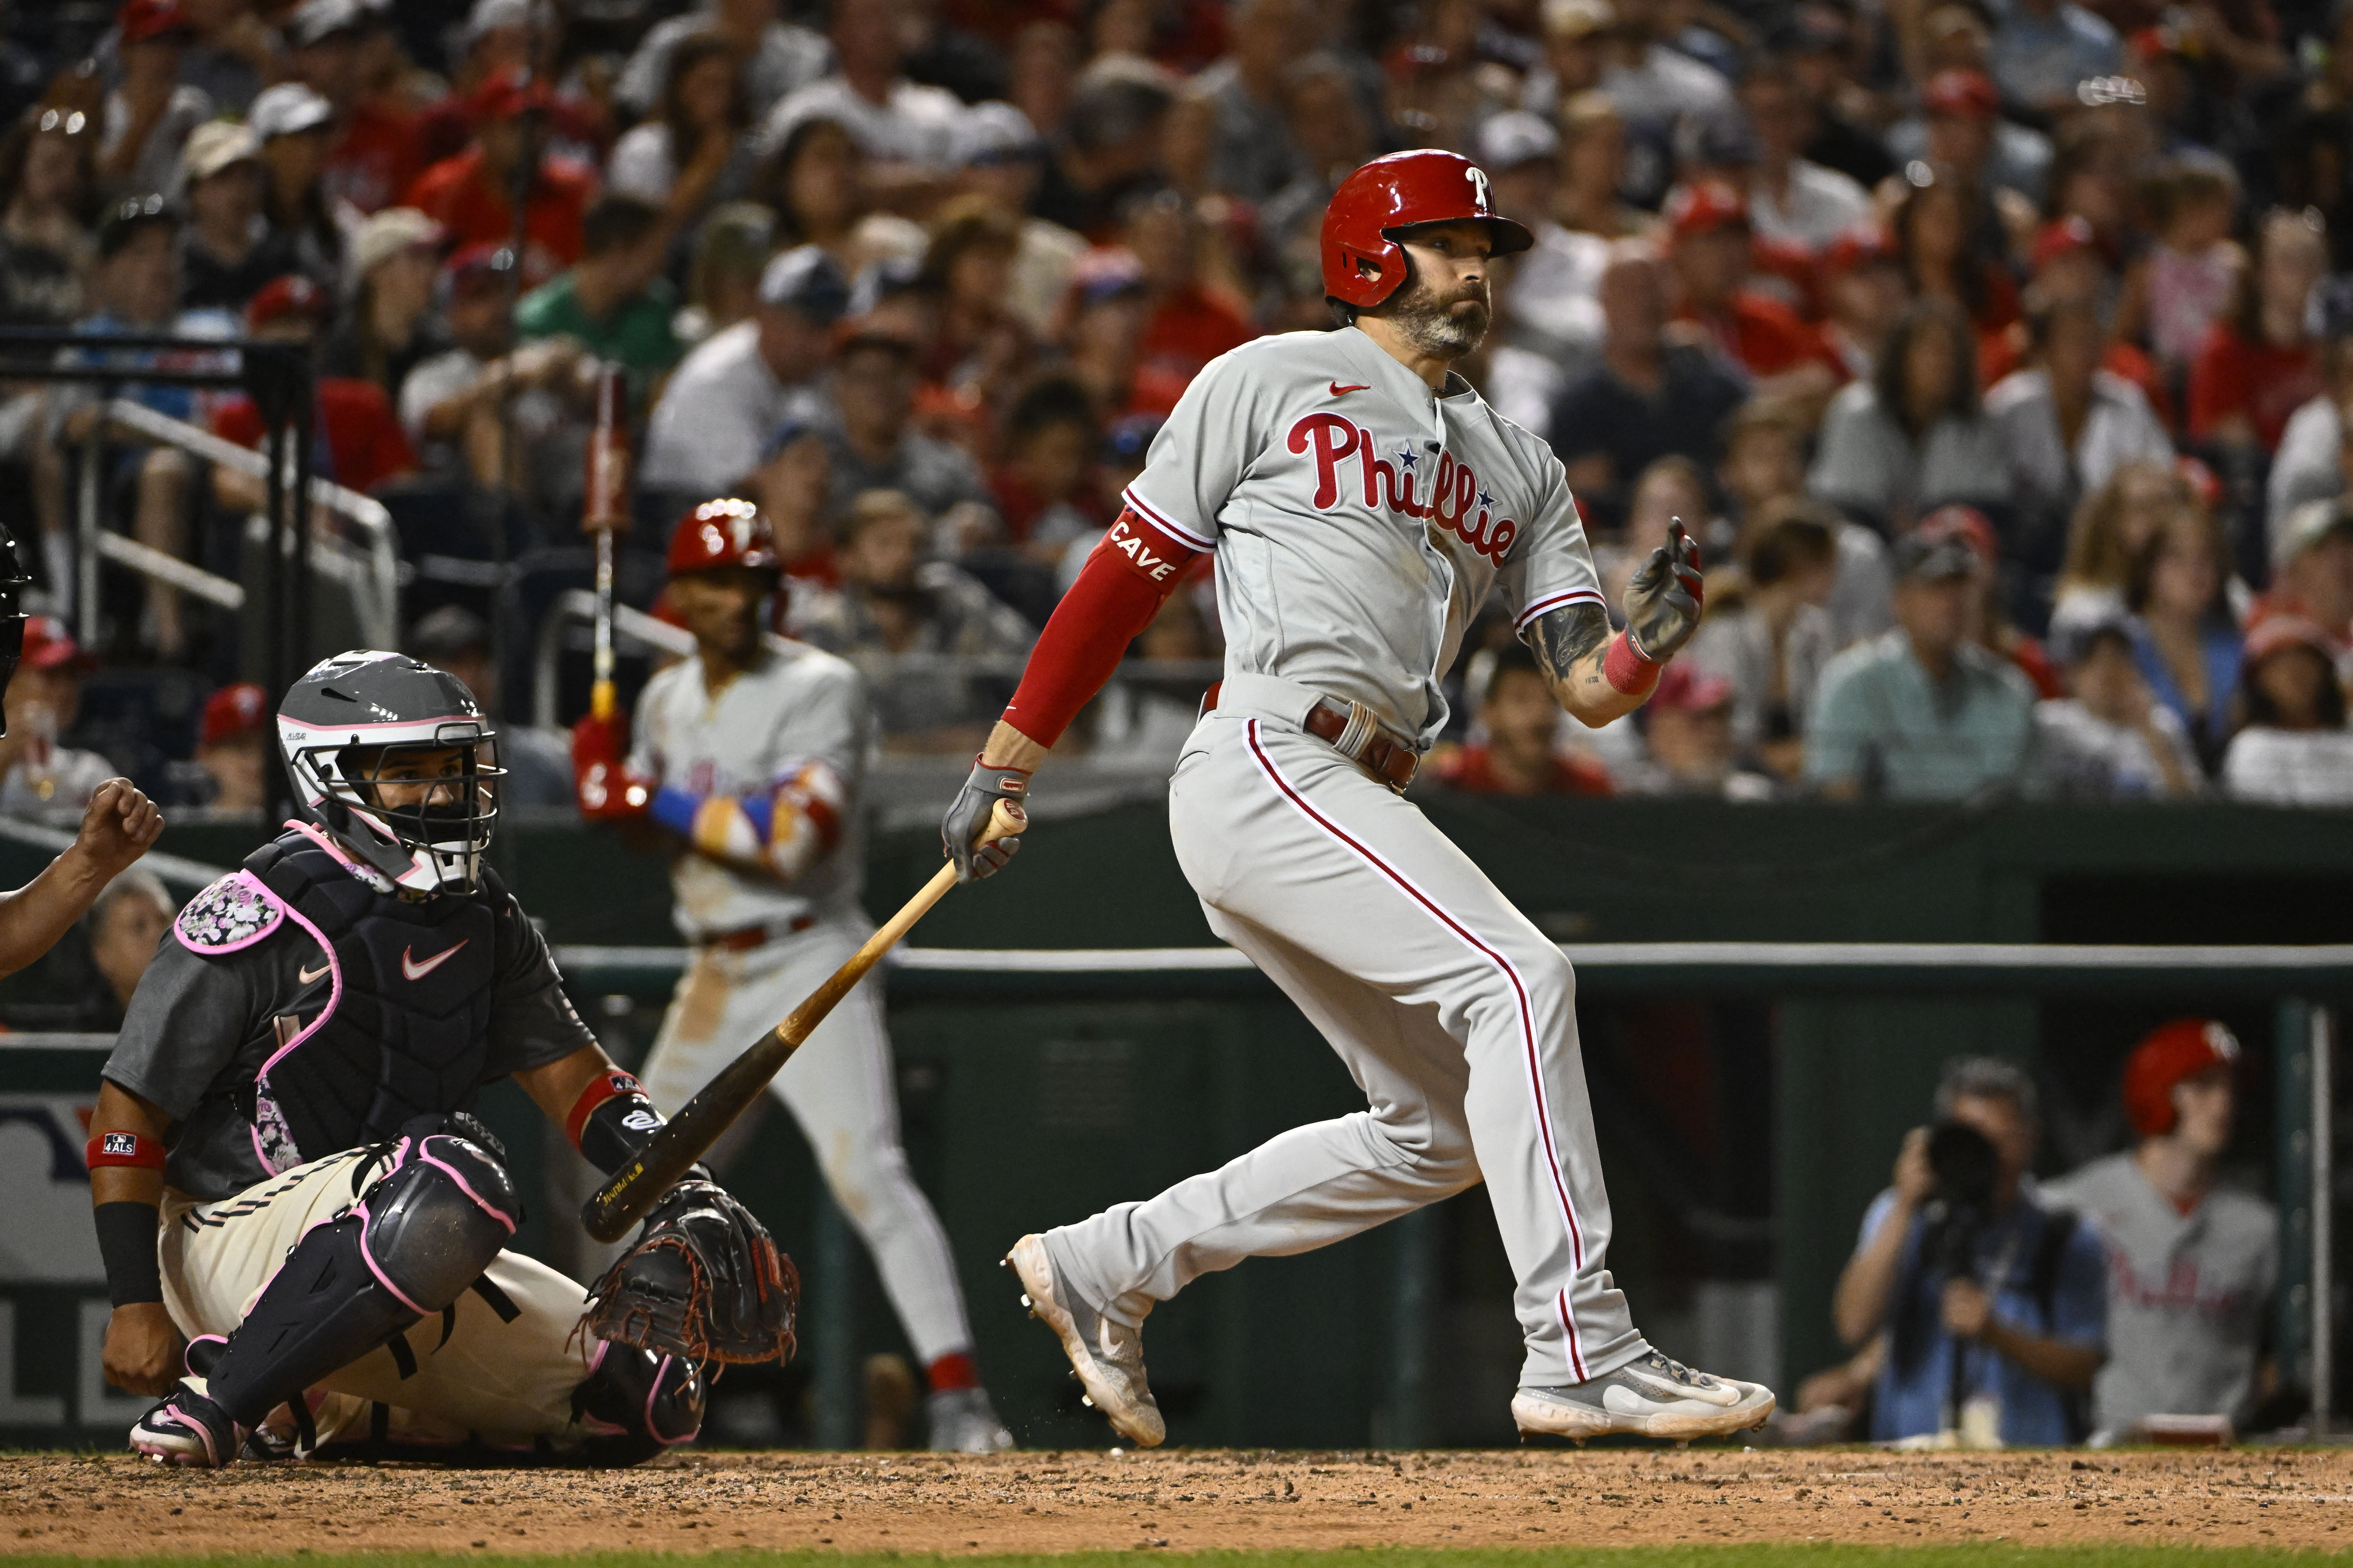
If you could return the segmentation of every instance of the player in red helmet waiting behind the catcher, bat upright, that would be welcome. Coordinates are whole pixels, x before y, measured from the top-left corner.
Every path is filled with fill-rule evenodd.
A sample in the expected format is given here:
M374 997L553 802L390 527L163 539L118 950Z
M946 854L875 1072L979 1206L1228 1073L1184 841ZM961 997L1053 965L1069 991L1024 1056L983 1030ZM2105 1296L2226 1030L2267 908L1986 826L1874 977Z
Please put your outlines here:
M847 661L762 639L781 564L753 503L687 512L668 567L671 607L696 656L647 682L633 745L621 722L581 719L574 764L584 816L652 823L680 849L671 886L692 959L645 1060L647 1093L675 1112L873 936L859 907L859 780L873 719ZM1012 1448L979 1385L948 1237L899 1145L873 983L833 1009L772 1088L925 1363L932 1448Z

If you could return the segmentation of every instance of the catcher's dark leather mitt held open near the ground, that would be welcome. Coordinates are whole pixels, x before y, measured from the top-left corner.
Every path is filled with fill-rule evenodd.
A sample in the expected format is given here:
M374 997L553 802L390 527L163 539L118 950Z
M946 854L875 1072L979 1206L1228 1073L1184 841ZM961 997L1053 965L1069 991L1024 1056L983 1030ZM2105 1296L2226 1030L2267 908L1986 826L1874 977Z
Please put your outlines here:
M800 1274L718 1182L685 1180L588 1300L584 1326L598 1340L689 1361L788 1361Z

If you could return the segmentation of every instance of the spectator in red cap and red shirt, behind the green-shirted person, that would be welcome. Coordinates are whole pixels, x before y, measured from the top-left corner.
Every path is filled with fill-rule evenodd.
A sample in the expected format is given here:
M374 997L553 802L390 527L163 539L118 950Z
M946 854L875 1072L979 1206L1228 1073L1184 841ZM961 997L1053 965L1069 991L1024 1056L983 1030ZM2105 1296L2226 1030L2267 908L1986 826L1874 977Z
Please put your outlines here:
M544 85L513 71L494 78L482 87L473 146L419 174L402 202L440 221L459 244L506 244L515 230L508 190L532 160L532 195L522 216L522 280L532 287L581 259L581 219L595 195L595 172L569 158L548 158L536 146L532 120L546 110Z

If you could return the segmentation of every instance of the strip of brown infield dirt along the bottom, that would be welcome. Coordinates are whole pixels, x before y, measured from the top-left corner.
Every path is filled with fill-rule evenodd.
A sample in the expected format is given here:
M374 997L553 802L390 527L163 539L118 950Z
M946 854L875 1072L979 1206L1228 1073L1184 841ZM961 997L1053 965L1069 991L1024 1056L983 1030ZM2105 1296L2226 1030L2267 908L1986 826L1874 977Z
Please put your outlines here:
M746 1453L588 1474L5 1455L0 1549L2348 1547L2348 1493L2332 1450Z

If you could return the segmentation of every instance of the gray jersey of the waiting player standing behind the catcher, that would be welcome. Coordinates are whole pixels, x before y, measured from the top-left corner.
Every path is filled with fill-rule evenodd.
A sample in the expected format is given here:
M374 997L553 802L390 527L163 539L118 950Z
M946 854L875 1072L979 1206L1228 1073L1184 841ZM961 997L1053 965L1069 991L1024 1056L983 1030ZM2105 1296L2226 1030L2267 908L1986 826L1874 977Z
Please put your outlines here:
M840 811L840 842L791 884L711 856L678 856L671 919L680 936L699 943L746 926L781 931L795 919L856 910L866 851L854 802L871 733L859 672L800 642L769 644L760 663L718 696L706 686L699 658L682 658L645 684L628 759L633 771L692 795L741 795L807 762L824 762L852 802Z

